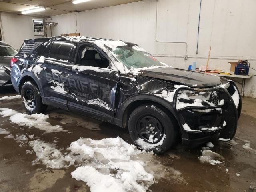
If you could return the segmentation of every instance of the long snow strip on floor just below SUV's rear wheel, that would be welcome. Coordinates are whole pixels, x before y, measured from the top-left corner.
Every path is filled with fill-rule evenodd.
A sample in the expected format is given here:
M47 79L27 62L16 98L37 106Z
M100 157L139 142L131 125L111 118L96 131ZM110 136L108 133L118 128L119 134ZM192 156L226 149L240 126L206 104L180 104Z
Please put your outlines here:
M8 109L8 108L0 108L0 115L3 117L9 117L12 123L16 123L19 126L27 126L28 128L37 128L44 133L51 133L51 132L60 132L64 130L61 126L56 125L52 126L46 120L49 118L49 115L44 114L24 114L19 113L15 110Z

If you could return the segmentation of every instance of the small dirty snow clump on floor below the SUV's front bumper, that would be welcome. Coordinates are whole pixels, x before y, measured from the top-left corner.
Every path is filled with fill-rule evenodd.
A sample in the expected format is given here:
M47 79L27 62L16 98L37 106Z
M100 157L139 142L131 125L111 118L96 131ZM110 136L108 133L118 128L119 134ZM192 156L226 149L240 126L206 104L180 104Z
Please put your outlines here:
M212 165L221 164L220 160L224 160L224 157L211 150L204 150L202 156L198 157L202 163L210 163Z

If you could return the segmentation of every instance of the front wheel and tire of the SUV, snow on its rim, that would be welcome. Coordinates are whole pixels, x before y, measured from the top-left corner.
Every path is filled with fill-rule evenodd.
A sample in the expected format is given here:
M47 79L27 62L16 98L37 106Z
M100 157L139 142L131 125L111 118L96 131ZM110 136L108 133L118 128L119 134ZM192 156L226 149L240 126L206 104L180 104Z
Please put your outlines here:
M161 107L143 104L130 115L128 130L135 145L160 154L175 142L178 131L175 118Z

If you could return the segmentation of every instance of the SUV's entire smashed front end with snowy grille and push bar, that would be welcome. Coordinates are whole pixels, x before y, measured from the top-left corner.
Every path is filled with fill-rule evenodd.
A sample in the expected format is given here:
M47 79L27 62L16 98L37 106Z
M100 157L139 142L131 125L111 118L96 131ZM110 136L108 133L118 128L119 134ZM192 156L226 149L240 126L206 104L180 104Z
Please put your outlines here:
M236 133L242 100L231 80L213 88L180 87L173 102L181 127L182 143L197 146L212 138L231 140Z

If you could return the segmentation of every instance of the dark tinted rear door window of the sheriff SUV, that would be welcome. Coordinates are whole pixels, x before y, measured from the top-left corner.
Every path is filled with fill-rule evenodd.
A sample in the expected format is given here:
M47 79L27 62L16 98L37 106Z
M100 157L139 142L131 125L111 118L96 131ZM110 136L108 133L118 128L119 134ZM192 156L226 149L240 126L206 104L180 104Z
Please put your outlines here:
M50 50L50 58L68 61L68 57L73 44L66 42L54 42Z

